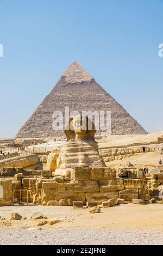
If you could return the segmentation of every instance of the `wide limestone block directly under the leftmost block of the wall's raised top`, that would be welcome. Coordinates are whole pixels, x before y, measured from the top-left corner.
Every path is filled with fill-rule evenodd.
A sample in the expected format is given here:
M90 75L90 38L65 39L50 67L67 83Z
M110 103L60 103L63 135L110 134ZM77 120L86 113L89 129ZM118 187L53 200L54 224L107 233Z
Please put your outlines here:
M74 191L76 192L98 192L98 180L79 180L74 182Z

